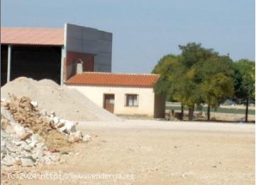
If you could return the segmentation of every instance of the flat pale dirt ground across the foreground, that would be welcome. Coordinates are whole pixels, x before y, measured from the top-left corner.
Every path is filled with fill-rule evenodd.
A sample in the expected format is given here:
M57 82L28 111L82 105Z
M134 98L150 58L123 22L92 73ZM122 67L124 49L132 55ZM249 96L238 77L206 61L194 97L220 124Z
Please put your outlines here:
M67 162L13 169L36 179L2 184L255 184L255 124L126 120L78 129L92 141L70 148Z

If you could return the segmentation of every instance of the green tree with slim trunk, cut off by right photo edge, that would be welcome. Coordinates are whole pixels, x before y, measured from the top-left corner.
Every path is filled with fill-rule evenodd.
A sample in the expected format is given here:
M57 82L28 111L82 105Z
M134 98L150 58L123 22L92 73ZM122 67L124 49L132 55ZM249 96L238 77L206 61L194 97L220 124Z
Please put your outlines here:
M245 122L247 122L249 103L255 100L255 62L240 59L233 63L233 70L234 100L245 104Z

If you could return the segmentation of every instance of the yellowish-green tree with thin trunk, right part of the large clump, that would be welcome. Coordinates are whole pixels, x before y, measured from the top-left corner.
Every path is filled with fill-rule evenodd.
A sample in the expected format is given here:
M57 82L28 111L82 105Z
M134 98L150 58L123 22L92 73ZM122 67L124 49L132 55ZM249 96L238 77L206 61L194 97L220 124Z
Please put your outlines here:
M215 54L196 65L201 80L202 100L207 103L207 119L211 107L218 107L223 100L233 96L232 60L228 56Z

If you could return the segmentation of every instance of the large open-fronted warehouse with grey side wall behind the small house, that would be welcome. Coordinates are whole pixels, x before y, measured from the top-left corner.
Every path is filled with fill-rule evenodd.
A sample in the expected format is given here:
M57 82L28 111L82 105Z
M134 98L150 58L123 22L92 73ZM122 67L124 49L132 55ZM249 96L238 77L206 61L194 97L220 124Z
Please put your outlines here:
M111 72L112 33L65 23L64 28L1 28L1 85L19 76L62 85L77 71Z

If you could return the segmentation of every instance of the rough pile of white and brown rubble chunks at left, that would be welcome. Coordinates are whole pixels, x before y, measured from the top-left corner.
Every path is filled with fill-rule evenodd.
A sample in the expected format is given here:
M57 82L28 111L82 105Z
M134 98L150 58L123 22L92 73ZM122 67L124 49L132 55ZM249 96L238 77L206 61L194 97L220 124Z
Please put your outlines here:
M72 121L38 109L28 97L1 99L1 165L34 166L62 162L62 148L90 141Z

